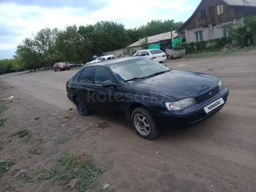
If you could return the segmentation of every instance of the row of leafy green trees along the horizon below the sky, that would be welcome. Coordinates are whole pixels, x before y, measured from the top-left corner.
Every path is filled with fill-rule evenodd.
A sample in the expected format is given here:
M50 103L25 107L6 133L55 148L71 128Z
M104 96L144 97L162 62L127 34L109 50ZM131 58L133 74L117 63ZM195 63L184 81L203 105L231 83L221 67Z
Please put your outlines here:
M102 21L66 26L64 30L45 27L33 37L24 38L12 59L0 60L0 73L50 69L60 61L86 63L94 54L126 48L139 38L177 30L182 24L174 20L152 20L144 26L125 29L121 23Z

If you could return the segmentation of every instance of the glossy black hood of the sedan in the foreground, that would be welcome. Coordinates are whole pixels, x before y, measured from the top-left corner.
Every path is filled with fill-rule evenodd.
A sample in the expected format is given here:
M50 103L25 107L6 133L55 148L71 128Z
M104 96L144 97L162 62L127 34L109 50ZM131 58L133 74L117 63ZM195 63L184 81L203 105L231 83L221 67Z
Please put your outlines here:
M219 79L208 74L172 70L158 76L136 81L129 86L168 95L177 100L197 97L218 86Z

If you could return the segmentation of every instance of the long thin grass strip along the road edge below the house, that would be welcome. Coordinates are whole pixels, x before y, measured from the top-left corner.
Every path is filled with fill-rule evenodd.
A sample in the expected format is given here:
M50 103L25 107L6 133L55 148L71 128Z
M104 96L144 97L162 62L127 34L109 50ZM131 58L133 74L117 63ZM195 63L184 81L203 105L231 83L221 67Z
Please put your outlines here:
M241 49L226 49L226 50L220 50L220 51L206 51L206 52L200 52L198 54L191 54L191 55L185 55L183 58L190 59L190 58L204 58L209 56L216 56L216 55L225 55L225 54L232 54L234 52L247 52L256 49L256 47L247 47L247 48L241 48Z

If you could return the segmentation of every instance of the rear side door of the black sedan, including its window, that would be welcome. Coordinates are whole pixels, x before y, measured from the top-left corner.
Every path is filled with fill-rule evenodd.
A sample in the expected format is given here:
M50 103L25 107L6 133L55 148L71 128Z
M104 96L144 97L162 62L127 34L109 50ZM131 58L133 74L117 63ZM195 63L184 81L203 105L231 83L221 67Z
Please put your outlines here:
M84 106L93 110L94 108L94 69L93 66L85 67L80 73L76 83L77 96L81 99Z

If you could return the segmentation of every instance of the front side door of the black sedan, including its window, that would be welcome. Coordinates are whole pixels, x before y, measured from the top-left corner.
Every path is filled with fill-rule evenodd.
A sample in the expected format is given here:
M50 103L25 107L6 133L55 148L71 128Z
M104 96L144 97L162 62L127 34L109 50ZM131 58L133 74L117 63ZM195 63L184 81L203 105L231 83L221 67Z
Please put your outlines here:
M106 67L96 66L94 74L94 91L97 99L95 104L105 112L113 113L116 111L122 111L122 92L119 91L118 86L108 88L103 87L102 83L107 80L111 80L113 83L116 83L115 78Z

